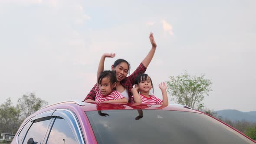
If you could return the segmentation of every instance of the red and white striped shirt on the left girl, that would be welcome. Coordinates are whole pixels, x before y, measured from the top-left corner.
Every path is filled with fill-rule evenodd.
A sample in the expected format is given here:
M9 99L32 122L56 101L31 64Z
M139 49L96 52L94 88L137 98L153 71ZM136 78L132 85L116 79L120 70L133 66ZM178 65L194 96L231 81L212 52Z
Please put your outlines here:
M99 85L96 86L96 88L95 88L95 93L96 93L95 101L98 101L98 102L125 98L125 97L124 97L123 95L121 95L121 93L118 92L118 91L112 91L112 92L111 92L110 94L108 94L108 95L102 95L102 93L101 93L100 90L99 90Z

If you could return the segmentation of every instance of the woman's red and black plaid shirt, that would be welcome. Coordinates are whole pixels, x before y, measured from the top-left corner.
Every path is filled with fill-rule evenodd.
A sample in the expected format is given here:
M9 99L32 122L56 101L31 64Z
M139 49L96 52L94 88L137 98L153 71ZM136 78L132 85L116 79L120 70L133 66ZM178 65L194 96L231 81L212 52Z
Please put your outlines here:
M131 96L132 96L132 93L131 93L131 88L133 85L135 85L135 80L137 78L137 76L141 73L144 73L146 72L147 68L141 63L138 68L131 74L129 75L128 77L126 77L125 79L123 79L121 81L121 85L123 85L125 87L125 89L128 90L128 96L129 96L129 101L131 99ZM84 99L84 101L86 99L92 99L92 100L95 100L95 96L96 96L96 93L95 93L95 88L96 88L97 84L95 84L93 87L92 87L92 90L89 92L89 94L86 96L86 98Z

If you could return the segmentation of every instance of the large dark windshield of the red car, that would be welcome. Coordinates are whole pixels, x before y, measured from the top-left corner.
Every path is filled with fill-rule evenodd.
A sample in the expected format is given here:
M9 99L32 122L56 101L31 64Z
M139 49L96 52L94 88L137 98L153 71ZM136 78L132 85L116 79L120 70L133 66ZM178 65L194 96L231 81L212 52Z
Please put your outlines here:
M207 115L166 110L86 111L98 144L254 144Z

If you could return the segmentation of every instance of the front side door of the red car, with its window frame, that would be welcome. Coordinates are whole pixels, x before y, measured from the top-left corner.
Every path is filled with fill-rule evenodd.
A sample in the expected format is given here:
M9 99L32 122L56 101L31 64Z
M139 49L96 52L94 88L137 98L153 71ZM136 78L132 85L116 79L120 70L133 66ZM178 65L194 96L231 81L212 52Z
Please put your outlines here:
M53 124L44 144L85 144L82 130L74 112L68 109L54 111Z

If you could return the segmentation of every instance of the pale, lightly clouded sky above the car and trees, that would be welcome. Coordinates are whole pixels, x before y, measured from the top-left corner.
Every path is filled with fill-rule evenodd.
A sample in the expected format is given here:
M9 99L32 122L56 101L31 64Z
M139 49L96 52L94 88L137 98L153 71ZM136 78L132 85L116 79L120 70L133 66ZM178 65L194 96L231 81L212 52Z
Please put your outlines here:
M103 53L105 70L121 58L133 72L152 32L154 95L187 71L213 82L207 108L256 111L255 15L255 0L0 0L0 104L83 100Z

